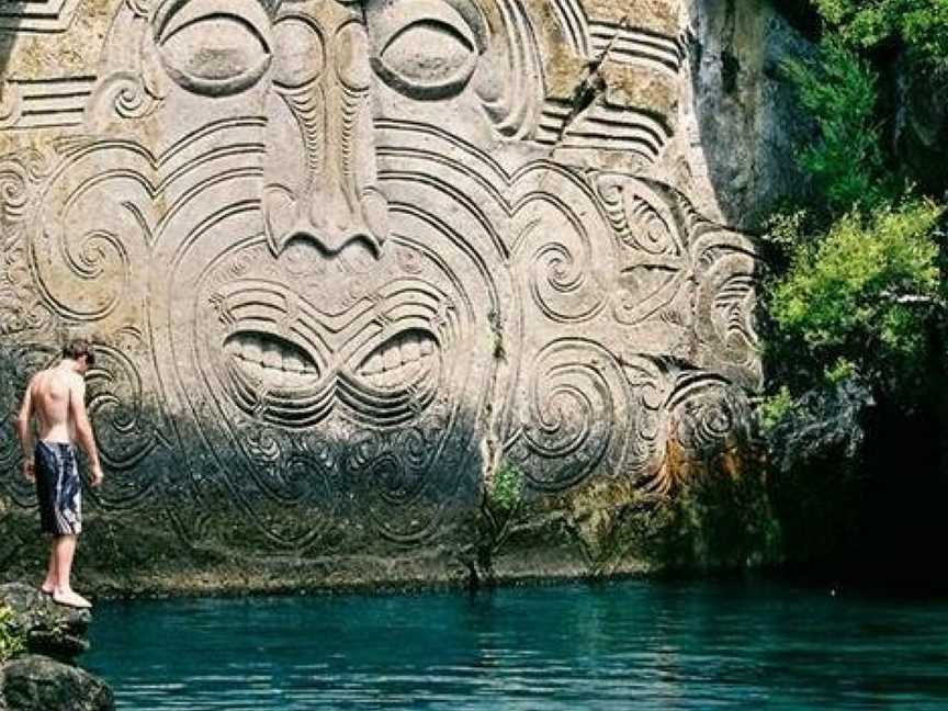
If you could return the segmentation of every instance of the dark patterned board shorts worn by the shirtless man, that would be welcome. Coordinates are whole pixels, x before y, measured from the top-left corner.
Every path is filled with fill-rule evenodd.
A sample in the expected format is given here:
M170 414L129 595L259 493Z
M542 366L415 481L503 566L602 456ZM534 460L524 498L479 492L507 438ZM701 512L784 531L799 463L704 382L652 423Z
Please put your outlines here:
M82 487L76 450L66 442L36 442L36 498L44 533L78 535L82 531Z

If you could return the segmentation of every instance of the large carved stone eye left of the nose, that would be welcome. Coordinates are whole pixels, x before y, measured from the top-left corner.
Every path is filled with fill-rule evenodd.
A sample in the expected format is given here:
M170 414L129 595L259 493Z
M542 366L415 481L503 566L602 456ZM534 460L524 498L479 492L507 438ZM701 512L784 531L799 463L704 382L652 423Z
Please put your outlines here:
M235 7L245 4L238 0ZM168 75L200 94L234 94L252 86L270 64L255 14L249 8L246 15L219 12L207 0L165 5L156 18L156 44Z

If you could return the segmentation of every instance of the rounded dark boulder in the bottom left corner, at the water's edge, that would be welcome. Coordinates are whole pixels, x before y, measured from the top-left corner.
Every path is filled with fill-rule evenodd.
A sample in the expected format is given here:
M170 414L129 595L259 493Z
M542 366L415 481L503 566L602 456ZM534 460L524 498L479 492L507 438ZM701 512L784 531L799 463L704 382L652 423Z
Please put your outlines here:
M111 711L112 690L92 675L29 654L0 665L2 711Z

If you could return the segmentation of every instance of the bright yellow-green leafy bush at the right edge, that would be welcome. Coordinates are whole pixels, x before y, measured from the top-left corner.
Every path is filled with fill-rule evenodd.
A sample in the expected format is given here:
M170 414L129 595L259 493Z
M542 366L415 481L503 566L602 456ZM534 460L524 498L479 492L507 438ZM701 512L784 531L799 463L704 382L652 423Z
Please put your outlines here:
M940 307L943 208L928 201L844 215L817 237L799 235L790 269L771 284L771 350L838 382L854 371L877 383L917 373L926 319Z

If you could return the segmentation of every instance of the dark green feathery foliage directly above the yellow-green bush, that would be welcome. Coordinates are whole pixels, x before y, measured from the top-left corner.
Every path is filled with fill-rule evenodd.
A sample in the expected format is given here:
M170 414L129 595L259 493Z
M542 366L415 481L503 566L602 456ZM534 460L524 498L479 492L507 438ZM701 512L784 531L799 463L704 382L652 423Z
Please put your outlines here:
M828 212L871 210L891 199L874 116L878 75L869 63L828 36L813 60L786 60L783 71L820 129L800 162L825 195Z

